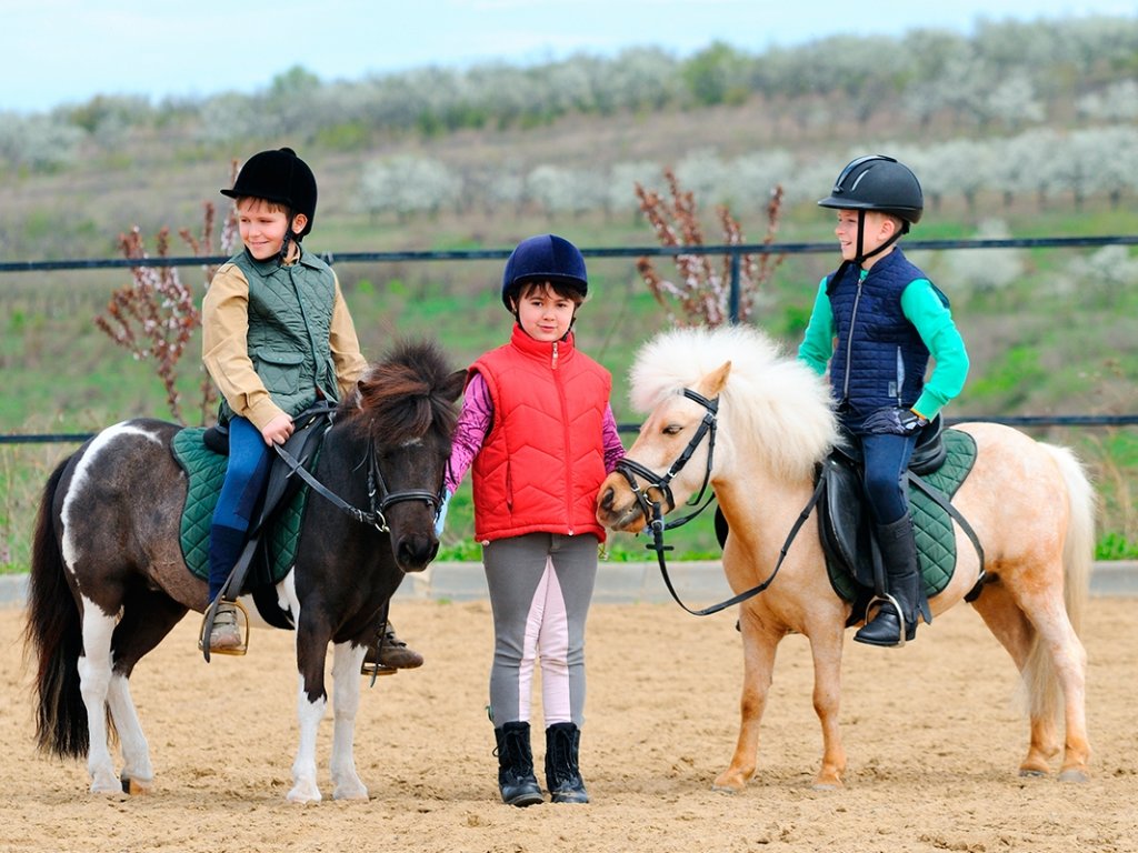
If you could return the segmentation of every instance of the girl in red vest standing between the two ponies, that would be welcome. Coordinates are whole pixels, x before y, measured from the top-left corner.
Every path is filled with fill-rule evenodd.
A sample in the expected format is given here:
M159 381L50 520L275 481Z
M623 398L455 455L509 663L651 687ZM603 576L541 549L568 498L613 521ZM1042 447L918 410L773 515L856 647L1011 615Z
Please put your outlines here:
M609 372L575 345L588 293L580 251L554 234L510 255L502 301L510 342L467 379L446 480L473 469L475 537L494 613L489 714L503 802L543 802L530 751L530 693L541 657L545 784L554 803L587 803L578 752L585 707L585 618L604 528L601 482L625 450Z

